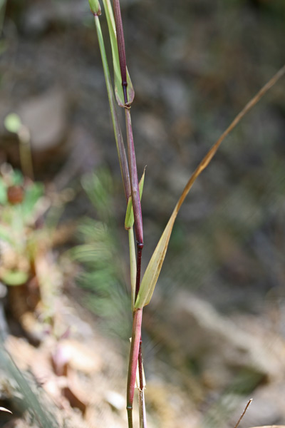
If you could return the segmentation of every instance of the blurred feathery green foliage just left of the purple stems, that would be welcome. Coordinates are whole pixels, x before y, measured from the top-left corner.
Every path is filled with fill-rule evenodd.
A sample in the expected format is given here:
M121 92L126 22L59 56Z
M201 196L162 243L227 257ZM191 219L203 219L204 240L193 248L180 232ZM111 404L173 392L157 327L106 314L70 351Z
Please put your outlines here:
M115 228L114 187L106 169L83 177L82 185L97 219L86 218L78 228L81 245L71 250L81 263L78 283L86 290L83 303L102 320L108 333L124 340L130 332L130 296Z

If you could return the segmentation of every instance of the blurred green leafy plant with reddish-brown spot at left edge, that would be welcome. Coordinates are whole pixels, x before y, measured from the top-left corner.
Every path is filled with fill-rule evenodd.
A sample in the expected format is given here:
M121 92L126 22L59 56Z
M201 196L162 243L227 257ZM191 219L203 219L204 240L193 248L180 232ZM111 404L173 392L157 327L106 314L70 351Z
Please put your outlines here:
M25 182L23 175L2 165L0 175L0 280L22 285L34 262L35 224L45 210L41 183Z

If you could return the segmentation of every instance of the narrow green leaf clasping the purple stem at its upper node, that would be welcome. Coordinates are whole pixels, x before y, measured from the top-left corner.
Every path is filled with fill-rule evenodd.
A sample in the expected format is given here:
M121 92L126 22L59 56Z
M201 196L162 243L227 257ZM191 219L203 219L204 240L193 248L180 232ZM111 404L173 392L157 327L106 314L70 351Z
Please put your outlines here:
M122 76L120 73L120 61L119 61L119 53L118 53L118 44L117 44L117 36L115 31L115 19L113 15L113 9L110 4L110 0L103 0L103 5L105 9L105 14L107 17L108 22L108 29L109 29L109 35L110 35L110 43L112 48L112 56L113 56L113 67L114 67L114 81L115 81L115 96L117 99L117 102L120 107L125 107L125 98L123 93L123 86L122 86ZM135 91L133 88L133 83L130 80L130 75L127 68L127 96L128 96L128 103L127 106L130 106L131 103L133 103L133 99L135 97Z

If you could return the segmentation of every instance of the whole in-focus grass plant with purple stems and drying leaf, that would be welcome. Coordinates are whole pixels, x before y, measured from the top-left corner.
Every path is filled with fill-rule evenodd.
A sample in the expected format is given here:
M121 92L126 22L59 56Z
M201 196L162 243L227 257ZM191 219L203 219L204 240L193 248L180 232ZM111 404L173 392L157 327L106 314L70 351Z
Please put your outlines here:
M133 103L134 90L130 81L128 69L126 67L125 58L125 42L123 35L123 24L120 14L120 1L113 0L113 8L110 0L103 0L105 16L108 22L108 31L110 35L110 45L113 56L114 68L114 86L115 95L113 92L113 83L110 78L108 68L108 61L105 54L105 45L103 41L102 32L100 29L99 16L101 15L100 4L98 0L89 0L90 10L95 19L95 28L98 35L100 54L103 62L103 71L105 75L105 82L108 91L108 98L110 102L110 111L113 121L113 128L115 132L115 141L117 144L118 158L120 161L120 170L123 178L123 185L125 190L125 198L127 205L127 214L125 220L125 229L128 230L129 244L130 244L130 284L132 290L132 297L130 307L133 312L133 332L130 346L130 362L128 370L128 385L127 385L127 412L128 412L128 427L133 428L133 399L135 394L135 383L138 373L138 391L139 391L139 411L140 411L140 427L147 426L145 414L145 382L142 369L142 339L141 339L141 325L142 325L142 310L147 305L155 290L157 279L160 275L162 263L165 259L167 246L170 241L172 228L175 223L177 214L184 202L187 194L189 193L192 185L195 183L197 177L202 171L207 168L207 165L212 161L220 144L227 137L227 135L234 129L239 121L248 113L248 111L255 106L261 96L276 83L285 73L285 66L281 68L266 85L261 88L254 98L243 108L243 110L234 118L230 126L222 133L222 136L212 146L203 160L199 163L194 173L192 173L190 180L185 185L182 195L178 200L175 208L170 216L162 236L157 243L150 262L147 265L145 273L140 280L140 267L142 259L143 248L143 229L142 229L142 212L140 206L140 196L142 192L143 178L141 185L138 183L138 171L135 162L135 146L133 141L133 129L130 117L130 106ZM116 113L115 99L120 107L125 111L125 135L128 146L128 156L125 153L125 146L123 143L123 133L120 128L118 115ZM135 228L135 238L133 233ZM136 241L136 252L135 252Z

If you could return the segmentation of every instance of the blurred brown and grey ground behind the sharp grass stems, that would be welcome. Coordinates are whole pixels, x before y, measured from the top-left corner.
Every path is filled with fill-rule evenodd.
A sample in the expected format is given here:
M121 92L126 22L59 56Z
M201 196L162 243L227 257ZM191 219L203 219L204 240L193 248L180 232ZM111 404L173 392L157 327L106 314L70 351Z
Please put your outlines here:
M18 391L39 382L66 426L125 427L125 198L93 16L87 0L0 5L1 330L24 379L1 382L14 415L0 424L39 426ZM121 7L146 267L192 171L283 66L285 3ZM234 427L250 397L241 427L285 422L284 89L222 143L177 218L144 312L150 427Z

